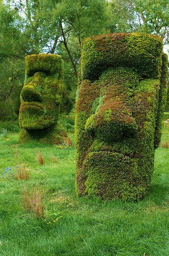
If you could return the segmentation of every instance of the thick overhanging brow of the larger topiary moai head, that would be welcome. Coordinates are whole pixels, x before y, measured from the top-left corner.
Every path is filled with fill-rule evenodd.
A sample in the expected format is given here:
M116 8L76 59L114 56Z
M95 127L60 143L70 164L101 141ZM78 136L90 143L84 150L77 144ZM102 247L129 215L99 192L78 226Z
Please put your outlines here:
M160 78L160 37L137 33L115 33L83 41L81 78L97 80L108 67L134 67L138 75Z

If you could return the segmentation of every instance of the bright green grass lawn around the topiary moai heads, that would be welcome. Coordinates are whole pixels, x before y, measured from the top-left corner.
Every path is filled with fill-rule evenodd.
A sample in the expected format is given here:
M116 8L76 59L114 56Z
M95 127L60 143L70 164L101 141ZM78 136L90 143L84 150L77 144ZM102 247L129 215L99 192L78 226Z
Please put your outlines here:
M164 120L167 118L169 113ZM18 134L0 136L1 256L169 255L169 148L156 150L147 198L137 203L101 201L76 196L74 147L19 145ZM167 125L162 134L162 141L166 140L169 142ZM38 152L44 165L37 161ZM30 180L14 178L12 170L17 172L21 164L29 168ZM3 175L7 167L12 170ZM45 218L52 222L56 215L55 225L23 210L24 184L31 190L39 184L46 191Z

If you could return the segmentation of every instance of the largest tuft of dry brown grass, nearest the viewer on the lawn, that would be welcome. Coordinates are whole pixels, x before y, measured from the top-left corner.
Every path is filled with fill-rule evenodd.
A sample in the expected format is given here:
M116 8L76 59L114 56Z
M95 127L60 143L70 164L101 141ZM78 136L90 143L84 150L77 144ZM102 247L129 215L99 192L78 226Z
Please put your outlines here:
M38 219L44 217L45 191L42 191L38 184L31 189L28 189L24 184L23 190L21 191L21 198L25 211L32 212Z

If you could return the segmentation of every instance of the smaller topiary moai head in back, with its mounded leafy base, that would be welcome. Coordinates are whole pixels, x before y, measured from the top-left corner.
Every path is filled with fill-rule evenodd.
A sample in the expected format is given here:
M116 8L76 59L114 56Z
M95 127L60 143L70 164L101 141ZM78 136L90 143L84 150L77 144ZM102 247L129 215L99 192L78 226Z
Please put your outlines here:
M63 91L63 60L56 54L35 54L25 59L25 81L20 94L20 142L60 143L57 120Z

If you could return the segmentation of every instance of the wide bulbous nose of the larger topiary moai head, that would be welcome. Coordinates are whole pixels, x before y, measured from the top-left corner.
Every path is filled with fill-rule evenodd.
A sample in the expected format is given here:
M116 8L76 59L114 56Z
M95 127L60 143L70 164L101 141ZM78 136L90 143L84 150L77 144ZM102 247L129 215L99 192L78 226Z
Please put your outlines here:
M86 132L106 142L133 137L137 131L135 118L123 110L106 110L90 116L85 125Z

